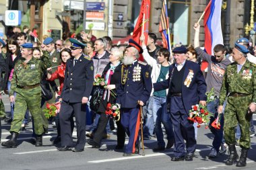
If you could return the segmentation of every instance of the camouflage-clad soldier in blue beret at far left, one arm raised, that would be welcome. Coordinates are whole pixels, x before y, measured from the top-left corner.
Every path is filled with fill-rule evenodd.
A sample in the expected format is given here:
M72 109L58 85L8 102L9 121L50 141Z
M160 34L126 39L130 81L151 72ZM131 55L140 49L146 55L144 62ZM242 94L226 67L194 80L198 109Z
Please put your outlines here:
M36 133L36 146L42 146L42 134L44 128L42 124L42 116L40 111L41 105L41 87L40 81L44 69L51 67L49 52L44 52L40 60L32 57L32 43L26 43L22 46L22 60L19 60L13 72L11 80L11 90L9 91L9 99L14 102L13 92L17 93L15 98L15 111L13 121L11 122L11 139L3 142L3 146L16 147L16 140L24 113L27 108L34 119L34 130Z

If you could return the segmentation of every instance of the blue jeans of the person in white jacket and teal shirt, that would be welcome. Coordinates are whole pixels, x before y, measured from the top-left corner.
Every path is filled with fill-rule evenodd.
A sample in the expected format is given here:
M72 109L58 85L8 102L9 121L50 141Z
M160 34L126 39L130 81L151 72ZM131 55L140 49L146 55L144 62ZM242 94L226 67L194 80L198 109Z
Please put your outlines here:
M158 146L164 147L164 134L162 133L161 123L166 130L167 139L174 140L174 133L172 128L172 121L170 120L170 114L167 113L166 97L154 96L152 99L153 113L156 114L156 138L158 140Z

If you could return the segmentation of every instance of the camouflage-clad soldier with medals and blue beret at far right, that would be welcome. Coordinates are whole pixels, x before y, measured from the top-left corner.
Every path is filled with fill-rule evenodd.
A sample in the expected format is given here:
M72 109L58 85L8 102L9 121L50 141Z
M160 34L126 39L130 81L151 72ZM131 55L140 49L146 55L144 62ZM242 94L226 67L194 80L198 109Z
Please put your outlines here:
M218 112L221 113L224 100L229 93L224 114L224 134L229 150L226 165L232 165L238 159L234 129L239 124L242 151L236 167L245 167L247 164L247 152L251 147L249 126L252 113L256 109L256 66L247 60L248 52L249 50L245 46L235 43L231 54L234 63L228 65L226 69L218 108Z

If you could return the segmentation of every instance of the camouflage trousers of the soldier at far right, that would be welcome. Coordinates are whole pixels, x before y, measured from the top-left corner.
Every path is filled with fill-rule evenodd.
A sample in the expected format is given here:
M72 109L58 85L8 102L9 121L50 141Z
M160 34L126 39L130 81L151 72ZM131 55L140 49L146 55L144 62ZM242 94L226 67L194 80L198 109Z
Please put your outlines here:
M251 147L250 120L247 118L248 106L251 103L251 95L245 97L228 97L224 112L224 134L227 144L235 144L235 128L239 124L241 148Z

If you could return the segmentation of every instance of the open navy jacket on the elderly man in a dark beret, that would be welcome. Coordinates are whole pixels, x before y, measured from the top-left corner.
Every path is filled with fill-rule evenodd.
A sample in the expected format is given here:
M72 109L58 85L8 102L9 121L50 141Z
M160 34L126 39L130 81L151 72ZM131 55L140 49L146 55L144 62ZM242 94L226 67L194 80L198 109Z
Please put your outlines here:
M168 95L167 95L167 105L170 105L170 96L171 96L171 89L170 89L170 77L172 77L172 69L174 69L175 64L170 65L169 69L169 78L166 79L165 81L154 83L154 91L160 91L162 89L167 89L168 88ZM182 83L182 99L183 99L183 105L184 108L189 114L189 110L191 110L191 106L198 104L199 101L204 100L206 101L207 96L205 95L206 93L206 83L205 79L203 77L203 73L201 72L200 66L195 63L191 62L189 60L186 60L184 71L184 76L183 76L183 83ZM191 81L191 84L189 87L184 85L185 79L189 75L189 70L192 70L194 75ZM172 107L170 105L170 107ZM167 108L168 110L170 108Z

